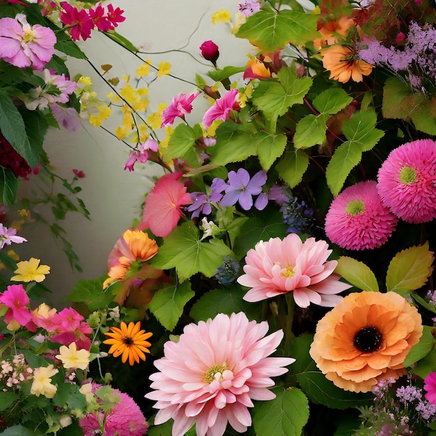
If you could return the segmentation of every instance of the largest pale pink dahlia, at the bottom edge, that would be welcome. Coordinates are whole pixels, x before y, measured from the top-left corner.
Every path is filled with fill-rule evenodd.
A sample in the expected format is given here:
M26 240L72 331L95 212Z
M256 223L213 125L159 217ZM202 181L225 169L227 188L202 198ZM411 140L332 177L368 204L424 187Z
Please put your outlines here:
M227 423L239 433L251 426L251 400L271 400L270 377L288 371L290 357L268 357L283 332L265 337L266 321L257 323L243 312L189 324L177 343L164 344L164 357L155 361L146 395L157 400L155 424L173 418L173 436L184 435L196 423L197 436L221 436Z

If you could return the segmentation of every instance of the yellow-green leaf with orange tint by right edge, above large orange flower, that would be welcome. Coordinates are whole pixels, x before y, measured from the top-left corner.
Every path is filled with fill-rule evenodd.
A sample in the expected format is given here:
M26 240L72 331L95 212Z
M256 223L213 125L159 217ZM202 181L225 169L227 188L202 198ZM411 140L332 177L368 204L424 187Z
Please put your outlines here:
M386 276L387 290L398 293L421 288L431 274L433 260L433 253L428 249L428 241L418 247L400 251L389 263Z

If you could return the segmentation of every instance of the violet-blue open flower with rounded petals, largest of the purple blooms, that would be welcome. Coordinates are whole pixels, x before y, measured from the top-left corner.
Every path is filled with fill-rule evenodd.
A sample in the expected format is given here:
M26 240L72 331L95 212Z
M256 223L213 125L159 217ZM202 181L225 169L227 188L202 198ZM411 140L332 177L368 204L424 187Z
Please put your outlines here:
M246 169L240 168L238 172L228 173L228 185L226 194L221 200L223 206L233 206L239 202L244 210L250 210L253 206L253 196L258 195L254 207L257 210L265 209L268 197L262 192L262 187L267 182L265 171L258 171L251 179Z

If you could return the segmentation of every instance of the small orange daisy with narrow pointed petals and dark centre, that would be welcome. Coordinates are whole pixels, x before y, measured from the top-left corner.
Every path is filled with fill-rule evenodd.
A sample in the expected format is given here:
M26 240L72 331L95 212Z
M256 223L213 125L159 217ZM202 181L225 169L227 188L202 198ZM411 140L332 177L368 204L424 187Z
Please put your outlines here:
M140 321L136 324L129 322L129 325L121 322L120 328L110 327L110 329L111 332L105 333L106 336L109 336L109 339L103 341L103 343L111 345L111 348L109 348L110 354L113 354L114 357L121 356L123 364L127 359L129 359L129 365L134 365L135 362L139 364L139 359L146 360L144 353L149 353L148 348L151 347L151 343L146 339L153 336L153 333L146 333L145 330L141 330Z

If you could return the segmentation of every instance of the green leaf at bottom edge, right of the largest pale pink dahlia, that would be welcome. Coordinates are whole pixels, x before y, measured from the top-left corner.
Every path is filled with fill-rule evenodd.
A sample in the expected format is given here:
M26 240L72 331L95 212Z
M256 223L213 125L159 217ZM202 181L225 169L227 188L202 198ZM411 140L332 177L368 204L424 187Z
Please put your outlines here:
M253 426L258 436L300 436L309 419L309 401L296 387L271 389L276 398L256 403Z

